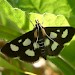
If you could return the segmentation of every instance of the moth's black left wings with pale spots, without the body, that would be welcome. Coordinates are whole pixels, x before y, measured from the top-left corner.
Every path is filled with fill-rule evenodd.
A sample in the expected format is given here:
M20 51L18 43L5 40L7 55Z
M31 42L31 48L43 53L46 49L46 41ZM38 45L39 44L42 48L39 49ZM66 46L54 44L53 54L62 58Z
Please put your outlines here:
M33 62L39 59L39 50L34 50L34 30L7 43L1 52L9 57L19 57L21 60Z

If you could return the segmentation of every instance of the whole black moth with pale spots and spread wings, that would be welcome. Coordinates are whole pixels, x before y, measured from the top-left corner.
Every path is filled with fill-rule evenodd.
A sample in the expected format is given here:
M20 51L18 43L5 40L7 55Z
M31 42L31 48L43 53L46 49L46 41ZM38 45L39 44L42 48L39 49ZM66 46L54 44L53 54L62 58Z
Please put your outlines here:
M32 31L7 43L1 52L9 57L19 57L23 61L34 62L47 55L56 56L64 43L70 41L75 33L72 27L42 27L36 21Z

